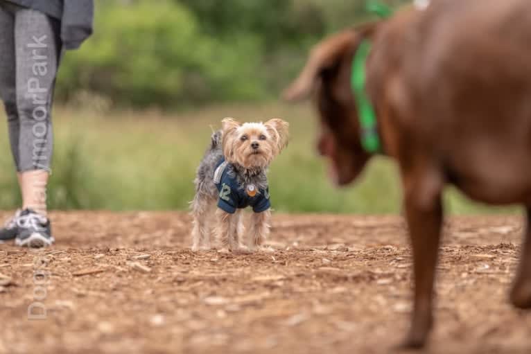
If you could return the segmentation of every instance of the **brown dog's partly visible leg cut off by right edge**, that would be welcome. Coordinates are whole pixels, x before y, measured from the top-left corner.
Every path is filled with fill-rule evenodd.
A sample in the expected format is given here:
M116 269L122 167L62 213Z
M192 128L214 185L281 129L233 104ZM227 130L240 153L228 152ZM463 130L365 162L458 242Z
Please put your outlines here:
M527 207L525 235L518 273L511 291L511 303L517 308L531 308L531 207Z

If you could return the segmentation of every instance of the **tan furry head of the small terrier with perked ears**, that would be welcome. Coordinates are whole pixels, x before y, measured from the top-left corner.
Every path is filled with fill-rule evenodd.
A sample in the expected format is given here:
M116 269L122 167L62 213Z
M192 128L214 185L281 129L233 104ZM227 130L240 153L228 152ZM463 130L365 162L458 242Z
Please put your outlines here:
M288 145L288 123L273 118L265 123L222 121L223 154L243 168L265 168Z

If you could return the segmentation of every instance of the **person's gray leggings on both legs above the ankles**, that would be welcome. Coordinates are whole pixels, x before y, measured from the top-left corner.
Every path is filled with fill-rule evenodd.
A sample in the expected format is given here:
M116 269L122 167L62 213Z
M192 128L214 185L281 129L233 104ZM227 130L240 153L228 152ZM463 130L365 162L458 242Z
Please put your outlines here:
M0 97L18 172L50 170L60 22L0 0Z

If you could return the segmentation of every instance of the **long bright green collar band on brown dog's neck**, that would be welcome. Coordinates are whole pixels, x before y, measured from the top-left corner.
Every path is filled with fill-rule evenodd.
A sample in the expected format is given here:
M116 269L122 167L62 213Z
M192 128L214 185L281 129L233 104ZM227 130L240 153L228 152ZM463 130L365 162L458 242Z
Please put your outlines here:
M374 107L365 91L366 76L365 65L371 50L369 39L363 39L352 61L351 85L358 106L360 119L361 145L366 152L374 154L381 150L381 141L378 136L378 124Z

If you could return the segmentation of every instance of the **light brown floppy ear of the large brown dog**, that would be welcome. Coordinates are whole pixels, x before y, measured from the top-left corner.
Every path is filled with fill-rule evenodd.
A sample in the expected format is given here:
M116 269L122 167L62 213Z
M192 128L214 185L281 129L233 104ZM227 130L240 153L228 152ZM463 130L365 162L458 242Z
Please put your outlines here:
M340 56L356 42L357 38L356 31L345 30L317 44L312 49L299 77L284 91L282 97L289 101L307 98L311 94L319 74L324 69L333 67L340 60Z

